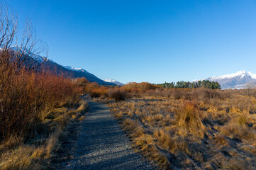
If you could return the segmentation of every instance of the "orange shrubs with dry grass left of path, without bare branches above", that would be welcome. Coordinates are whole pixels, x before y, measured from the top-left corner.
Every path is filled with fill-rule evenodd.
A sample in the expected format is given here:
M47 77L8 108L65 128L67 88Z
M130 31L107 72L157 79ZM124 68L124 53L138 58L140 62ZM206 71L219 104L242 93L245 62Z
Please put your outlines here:
M50 169L65 128L88 104L76 81L16 67L8 54L0 52L0 169Z

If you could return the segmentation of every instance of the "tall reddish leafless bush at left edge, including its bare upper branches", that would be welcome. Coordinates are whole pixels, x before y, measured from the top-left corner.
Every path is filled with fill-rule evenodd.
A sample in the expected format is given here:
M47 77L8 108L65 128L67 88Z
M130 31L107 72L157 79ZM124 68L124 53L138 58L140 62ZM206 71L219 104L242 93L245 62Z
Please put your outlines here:
M8 6L0 4L0 141L33 135L35 123L74 92L69 79L34 72L40 62L33 58L43 47L30 24L19 38L17 24Z

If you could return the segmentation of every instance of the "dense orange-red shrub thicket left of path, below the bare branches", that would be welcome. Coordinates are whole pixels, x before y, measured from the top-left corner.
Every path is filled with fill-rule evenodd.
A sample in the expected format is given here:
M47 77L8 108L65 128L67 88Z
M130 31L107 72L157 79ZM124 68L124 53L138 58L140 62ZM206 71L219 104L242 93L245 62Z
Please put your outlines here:
M74 96L70 79L20 69L1 69L0 141L10 137L36 133L35 125L50 109Z

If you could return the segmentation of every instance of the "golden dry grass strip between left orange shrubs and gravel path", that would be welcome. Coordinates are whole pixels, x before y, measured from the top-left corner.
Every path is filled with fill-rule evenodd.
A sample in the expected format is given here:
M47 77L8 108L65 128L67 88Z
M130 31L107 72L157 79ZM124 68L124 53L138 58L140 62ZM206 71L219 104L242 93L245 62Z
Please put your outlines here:
M0 145L0 169L48 169L46 162L52 156L52 153L60 147L60 135L65 131L70 118L78 117L79 113L88 108L88 103L84 100L79 102L78 108L57 108L43 121L43 130L48 131L49 135L37 140L31 140L29 143L23 142L23 139L10 137ZM32 144L34 143L34 144Z

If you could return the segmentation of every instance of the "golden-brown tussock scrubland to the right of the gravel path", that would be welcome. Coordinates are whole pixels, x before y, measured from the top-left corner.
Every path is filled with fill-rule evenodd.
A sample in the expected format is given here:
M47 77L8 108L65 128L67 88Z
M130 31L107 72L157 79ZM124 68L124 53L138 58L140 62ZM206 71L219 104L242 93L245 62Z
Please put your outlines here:
M254 89L94 87L87 92L108 105L135 150L161 169L256 168Z

